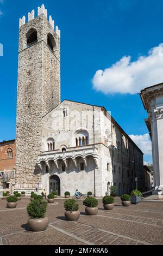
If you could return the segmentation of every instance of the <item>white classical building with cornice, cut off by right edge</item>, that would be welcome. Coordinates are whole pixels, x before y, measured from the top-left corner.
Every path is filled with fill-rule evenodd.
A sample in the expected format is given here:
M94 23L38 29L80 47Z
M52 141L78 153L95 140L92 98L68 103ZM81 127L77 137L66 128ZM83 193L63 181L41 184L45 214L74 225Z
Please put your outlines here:
M154 193L163 195L163 83L145 88L140 93L148 112L147 124L152 139Z

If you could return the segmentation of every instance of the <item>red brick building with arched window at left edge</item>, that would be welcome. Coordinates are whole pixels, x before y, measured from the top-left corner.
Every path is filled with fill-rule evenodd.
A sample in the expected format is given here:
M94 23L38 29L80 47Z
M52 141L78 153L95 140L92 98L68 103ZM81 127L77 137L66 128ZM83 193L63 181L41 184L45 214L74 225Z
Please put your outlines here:
M15 140L0 142L0 187L13 192L15 186Z

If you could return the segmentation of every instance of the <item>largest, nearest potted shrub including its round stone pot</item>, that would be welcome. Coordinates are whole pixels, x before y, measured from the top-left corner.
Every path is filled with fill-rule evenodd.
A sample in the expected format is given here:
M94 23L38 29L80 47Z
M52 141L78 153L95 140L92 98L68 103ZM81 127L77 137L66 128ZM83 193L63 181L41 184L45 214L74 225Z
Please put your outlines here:
M27 206L27 212L30 217L28 219L28 225L32 231L44 231L47 229L49 219L45 217L47 211L47 201L34 200Z

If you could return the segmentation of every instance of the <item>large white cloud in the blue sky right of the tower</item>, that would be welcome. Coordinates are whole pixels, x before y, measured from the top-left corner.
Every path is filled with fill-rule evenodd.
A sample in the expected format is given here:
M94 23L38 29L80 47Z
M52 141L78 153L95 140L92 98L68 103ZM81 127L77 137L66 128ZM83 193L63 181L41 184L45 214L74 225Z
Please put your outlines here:
M96 91L108 93L139 93L145 87L163 81L163 44L152 48L147 56L131 62L130 56L104 70L97 70L92 79Z

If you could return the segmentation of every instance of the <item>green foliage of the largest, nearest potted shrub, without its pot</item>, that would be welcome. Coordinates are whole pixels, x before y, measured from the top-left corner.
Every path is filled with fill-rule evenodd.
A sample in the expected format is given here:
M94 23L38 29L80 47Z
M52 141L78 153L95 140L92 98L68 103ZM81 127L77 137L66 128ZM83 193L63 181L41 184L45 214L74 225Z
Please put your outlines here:
M27 206L27 212L30 218L40 219L45 217L47 210L47 201L34 200Z

